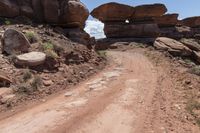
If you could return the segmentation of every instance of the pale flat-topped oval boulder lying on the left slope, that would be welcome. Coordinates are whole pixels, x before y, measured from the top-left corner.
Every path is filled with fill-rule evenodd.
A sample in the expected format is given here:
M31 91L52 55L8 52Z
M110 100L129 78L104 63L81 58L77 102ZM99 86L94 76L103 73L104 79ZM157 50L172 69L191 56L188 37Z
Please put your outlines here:
M38 66L45 62L46 54L42 52L30 52L16 57L15 63L20 66Z

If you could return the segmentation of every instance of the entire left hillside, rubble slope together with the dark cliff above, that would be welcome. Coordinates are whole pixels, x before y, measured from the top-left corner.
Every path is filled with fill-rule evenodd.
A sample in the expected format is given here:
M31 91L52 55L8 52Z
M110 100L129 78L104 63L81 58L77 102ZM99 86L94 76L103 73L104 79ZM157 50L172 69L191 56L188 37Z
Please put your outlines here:
M78 13L78 14L77 14ZM0 112L42 100L102 69L78 0L0 1Z

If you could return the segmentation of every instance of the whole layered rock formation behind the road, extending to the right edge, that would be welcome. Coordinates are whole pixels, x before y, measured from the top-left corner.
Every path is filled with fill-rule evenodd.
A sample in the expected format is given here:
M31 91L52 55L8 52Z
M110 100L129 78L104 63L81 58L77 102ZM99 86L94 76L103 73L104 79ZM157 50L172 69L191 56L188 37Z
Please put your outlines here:
M111 2L95 8L91 15L105 24L107 38L165 36L179 39L200 33L197 28L200 26L200 17L179 21L178 14L166 12L163 4L133 7Z

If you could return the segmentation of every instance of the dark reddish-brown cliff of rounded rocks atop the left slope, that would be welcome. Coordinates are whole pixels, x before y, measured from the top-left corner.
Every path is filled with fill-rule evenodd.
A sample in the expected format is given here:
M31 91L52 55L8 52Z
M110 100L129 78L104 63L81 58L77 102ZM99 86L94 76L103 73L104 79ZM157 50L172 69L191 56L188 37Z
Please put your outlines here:
M2 0L0 16L26 16L39 22L83 28L89 11L79 0Z

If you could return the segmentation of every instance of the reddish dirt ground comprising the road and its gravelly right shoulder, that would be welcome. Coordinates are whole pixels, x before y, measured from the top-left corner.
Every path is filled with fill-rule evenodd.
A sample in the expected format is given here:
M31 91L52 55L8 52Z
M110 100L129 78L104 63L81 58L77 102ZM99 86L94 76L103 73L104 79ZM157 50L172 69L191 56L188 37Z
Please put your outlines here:
M1 113L0 131L199 132L194 63L137 43L118 43L106 55L106 69L71 90L13 116Z

